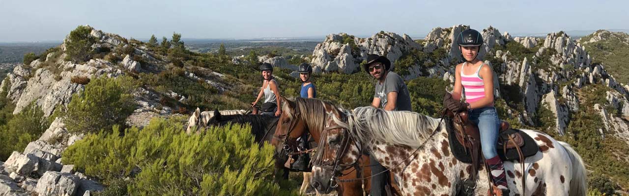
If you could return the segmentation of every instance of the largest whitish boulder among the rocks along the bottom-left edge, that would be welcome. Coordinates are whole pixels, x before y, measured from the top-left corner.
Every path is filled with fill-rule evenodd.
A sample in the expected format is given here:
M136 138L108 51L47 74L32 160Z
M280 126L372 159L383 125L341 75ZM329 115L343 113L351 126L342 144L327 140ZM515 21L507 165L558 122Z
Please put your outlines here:
M74 195L79 188L79 177L69 173L47 171L37 182L35 192L40 196Z

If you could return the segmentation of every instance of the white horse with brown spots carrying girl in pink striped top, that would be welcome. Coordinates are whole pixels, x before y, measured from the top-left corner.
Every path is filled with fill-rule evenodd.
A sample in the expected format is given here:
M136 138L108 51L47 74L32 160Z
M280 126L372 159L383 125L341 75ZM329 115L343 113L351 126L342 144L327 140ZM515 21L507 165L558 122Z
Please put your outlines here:
M313 163L312 184L329 191L333 170L343 170L360 151L390 168L403 195L455 195L471 166L457 161L448 143L444 122L415 112L391 112L373 107L330 112ZM510 195L585 195L586 170L576 151L540 131L522 130L535 139L540 151L520 163L504 162ZM518 165L518 166L516 166ZM479 172L486 172L480 168ZM487 175L477 175L476 195L486 195ZM525 178L526 186L521 185Z

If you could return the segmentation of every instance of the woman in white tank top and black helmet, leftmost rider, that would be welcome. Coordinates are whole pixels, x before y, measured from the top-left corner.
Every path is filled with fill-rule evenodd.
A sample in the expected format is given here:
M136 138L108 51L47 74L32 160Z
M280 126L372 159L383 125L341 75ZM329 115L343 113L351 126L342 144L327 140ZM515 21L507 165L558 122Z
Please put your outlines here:
M273 65L262 63L262 65L260 65L260 71L262 71L264 81L262 82L262 87L260 88L257 99L251 102L251 105L255 106L255 104L264 97L264 102L262 102L262 114L280 116L282 114L282 107L280 106L280 99L277 99L277 97L280 97L279 86L272 75ZM253 113L257 114L255 111Z

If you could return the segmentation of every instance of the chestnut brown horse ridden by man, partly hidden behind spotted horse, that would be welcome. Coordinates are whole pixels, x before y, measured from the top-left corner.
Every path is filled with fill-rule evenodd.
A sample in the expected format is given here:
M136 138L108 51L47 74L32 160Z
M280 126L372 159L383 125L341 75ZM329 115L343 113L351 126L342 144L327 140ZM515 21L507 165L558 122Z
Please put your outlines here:
M286 154L286 151L296 153L296 139L306 133L306 131L310 133L315 141L319 141L328 112L337 110L336 106L320 99L296 98L295 101L290 101L282 97L282 103L284 103L282 104L282 115L277 123L277 131L274 134L272 143L277 146L277 153L284 154ZM370 178L365 178L364 181L357 179L370 177L369 156L360 156L359 162L361 165L342 171L343 175L340 177L342 182L338 183L336 188L338 195L364 195L364 193L369 193ZM357 171L362 172L359 174ZM307 188L308 180L306 173L304 173L304 182L300 189L302 193ZM344 180L345 182L343 182Z

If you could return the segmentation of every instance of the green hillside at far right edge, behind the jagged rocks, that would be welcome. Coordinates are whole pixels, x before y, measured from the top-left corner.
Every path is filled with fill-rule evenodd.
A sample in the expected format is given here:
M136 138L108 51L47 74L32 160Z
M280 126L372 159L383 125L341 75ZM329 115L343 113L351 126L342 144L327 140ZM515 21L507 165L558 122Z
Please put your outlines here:
M598 30L577 42L587 48L587 52L594 58L593 63L602 64L618 82L629 84L629 72L626 69L629 34Z

